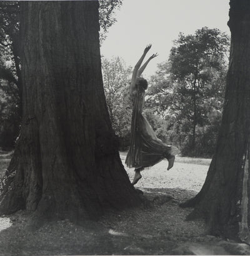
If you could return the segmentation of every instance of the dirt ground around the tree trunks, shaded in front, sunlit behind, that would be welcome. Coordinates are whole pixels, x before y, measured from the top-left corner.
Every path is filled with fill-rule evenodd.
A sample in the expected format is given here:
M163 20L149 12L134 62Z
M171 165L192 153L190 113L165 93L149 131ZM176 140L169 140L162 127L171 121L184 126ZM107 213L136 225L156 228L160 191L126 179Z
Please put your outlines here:
M0 155L0 175L8 161L8 154ZM202 220L185 221L191 209L179 203L201 189L209 163L177 157L170 171L166 161L144 170L136 188L153 206L111 212L99 221L75 225L62 220L32 227L24 211L1 216L0 255L250 255L246 244L207 235ZM133 179L133 170L127 171Z

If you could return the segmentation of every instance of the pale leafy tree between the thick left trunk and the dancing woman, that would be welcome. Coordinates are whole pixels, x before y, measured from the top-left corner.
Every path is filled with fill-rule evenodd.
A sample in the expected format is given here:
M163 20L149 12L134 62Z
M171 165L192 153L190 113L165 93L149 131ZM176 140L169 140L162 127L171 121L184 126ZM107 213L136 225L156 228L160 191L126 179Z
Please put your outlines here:
M130 132L131 105L129 100L129 80L131 67L126 67L119 57L102 60L103 83L111 124L120 138Z

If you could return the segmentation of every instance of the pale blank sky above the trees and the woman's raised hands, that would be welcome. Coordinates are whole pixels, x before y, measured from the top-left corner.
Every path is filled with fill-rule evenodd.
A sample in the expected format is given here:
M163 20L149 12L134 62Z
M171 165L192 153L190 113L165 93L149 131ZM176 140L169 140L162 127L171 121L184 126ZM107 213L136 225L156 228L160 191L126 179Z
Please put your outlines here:
M151 43L148 55L158 52L159 56L144 71L144 77L149 77L154 75L157 63L168 60L179 32L194 34L196 29L207 26L230 35L228 13L229 0L123 0L101 53L106 58L120 56L134 67Z

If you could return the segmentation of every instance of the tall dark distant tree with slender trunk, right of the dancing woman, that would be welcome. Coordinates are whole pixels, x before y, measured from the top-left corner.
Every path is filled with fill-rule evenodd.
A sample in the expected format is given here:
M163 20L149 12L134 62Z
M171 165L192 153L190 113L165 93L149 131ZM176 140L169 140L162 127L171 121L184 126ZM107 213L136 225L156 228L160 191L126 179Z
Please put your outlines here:
M171 80L176 84L172 104L191 120L192 149L196 146L196 125L203 125L207 112L204 100L210 99L214 89L217 90L212 88L212 82L217 73L224 70L228 47L227 35L219 29L204 27L194 35L181 33L171 49Z

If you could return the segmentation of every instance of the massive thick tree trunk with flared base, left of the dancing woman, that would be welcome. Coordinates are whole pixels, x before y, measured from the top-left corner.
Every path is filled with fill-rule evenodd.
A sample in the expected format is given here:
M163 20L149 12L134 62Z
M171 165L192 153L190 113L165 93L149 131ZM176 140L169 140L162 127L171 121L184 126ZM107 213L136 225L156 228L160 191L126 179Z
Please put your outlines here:
M138 204L104 97L98 1L21 2L23 115L1 213L101 215Z

